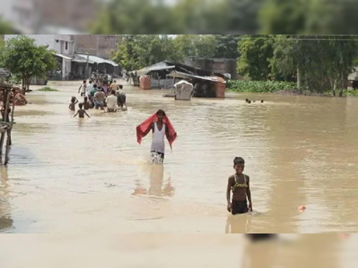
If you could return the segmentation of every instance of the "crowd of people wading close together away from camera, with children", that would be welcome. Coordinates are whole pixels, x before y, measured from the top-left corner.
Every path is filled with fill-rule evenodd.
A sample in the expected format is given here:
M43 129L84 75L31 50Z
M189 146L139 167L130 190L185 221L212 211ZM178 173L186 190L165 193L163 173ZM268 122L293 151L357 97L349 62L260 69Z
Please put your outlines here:
M123 86L118 85L116 80L105 82L101 85L93 84L92 80L83 80L83 83L78 88L78 93L83 97L83 102L78 104L79 110L74 116L79 115L79 118L84 118L87 114L86 110L101 109L108 113L117 112L118 110L127 110L126 94L123 91ZM78 103L76 96L72 96L68 108L75 111Z

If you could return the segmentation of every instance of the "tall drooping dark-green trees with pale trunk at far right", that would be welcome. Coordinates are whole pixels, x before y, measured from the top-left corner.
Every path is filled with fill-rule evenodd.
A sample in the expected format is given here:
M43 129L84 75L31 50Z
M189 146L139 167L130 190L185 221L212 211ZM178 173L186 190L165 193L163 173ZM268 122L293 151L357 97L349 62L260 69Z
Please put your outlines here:
M271 59L272 73L294 77L300 91L323 93L345 87L358 56L358 36L277 36ZM305 55L304 57L302 55Z

